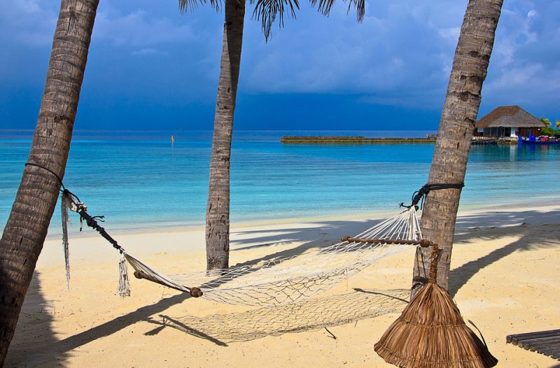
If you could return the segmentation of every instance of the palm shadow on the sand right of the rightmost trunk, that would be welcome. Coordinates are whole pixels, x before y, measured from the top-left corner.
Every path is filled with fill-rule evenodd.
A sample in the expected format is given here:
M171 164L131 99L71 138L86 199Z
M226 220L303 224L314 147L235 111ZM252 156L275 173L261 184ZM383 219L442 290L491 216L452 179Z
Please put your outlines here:
M455 236L455 243L470 242L475 239L491 241L503 236L515 236L517 240L449 271L449 294L453 297L479 270L518 250L560 247L558 241L560 230L557 227L552 227L550 224L527 226L527 224L542 222L542 216L543 213L540 211L512 211L460 218L458 228L462 228L463 231L460 230ZM547 220L554 222L560 218L560 211L549 211L545 216ZM484 224L484 227L481 227L481 224Z

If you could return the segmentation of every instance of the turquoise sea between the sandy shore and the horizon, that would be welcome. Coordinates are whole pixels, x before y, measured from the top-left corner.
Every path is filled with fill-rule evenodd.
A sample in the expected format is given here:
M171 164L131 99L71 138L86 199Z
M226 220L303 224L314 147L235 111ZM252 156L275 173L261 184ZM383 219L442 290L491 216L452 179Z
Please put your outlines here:
M422 137L425 131L235 132L231 221L398 211L428 179L433 144L285 145L285 135ZM0 131L0 229L32 132ZM175 141L171 143L171 135ZM211 132L76 131L64 183L107 229L204 225ZM461 208L560 199L560 145L472 146ZM59 209L50 232L59 232Z

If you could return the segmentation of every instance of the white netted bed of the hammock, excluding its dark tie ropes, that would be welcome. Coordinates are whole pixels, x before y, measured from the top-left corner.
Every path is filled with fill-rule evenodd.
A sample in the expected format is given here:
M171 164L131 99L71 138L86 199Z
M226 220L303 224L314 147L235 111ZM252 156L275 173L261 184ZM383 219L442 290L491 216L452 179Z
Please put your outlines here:
M413 240L422 239L414 206L388 218L354 238ZM190 292L200 288L202 297L226 304L278 306L312 297L332 288L348 276L358 273L381 257L409 248L404 244L342 241L302 255L269 260L264 264L230 267L164 276L123 253L134 270L147 275L148 280L170 288Z

